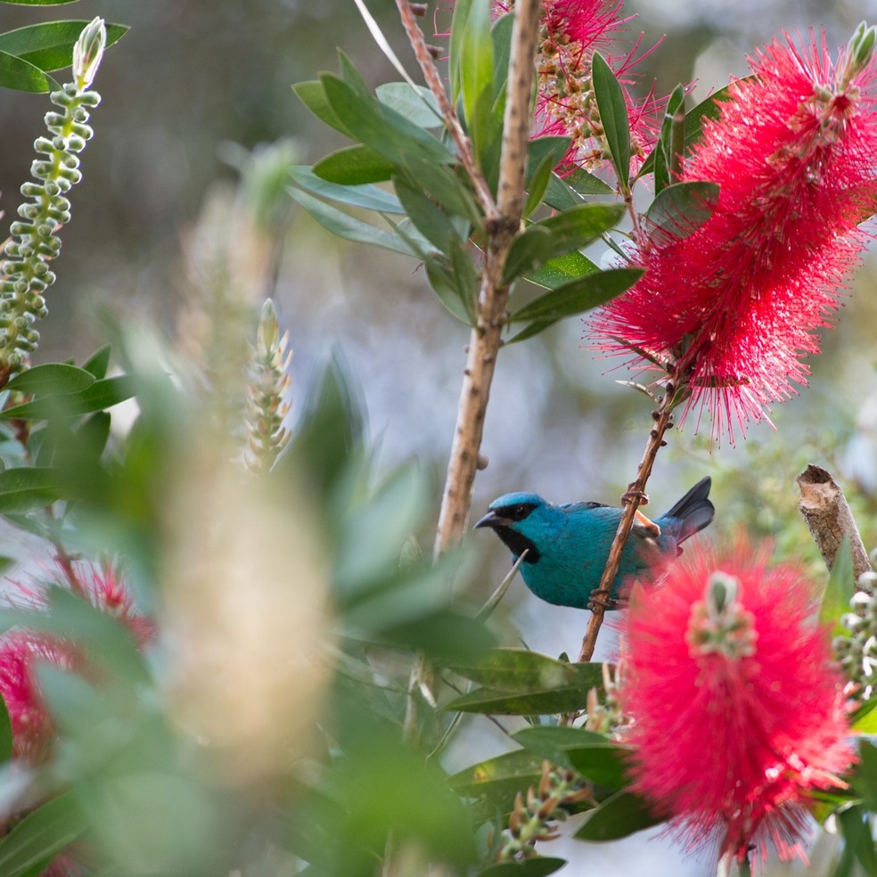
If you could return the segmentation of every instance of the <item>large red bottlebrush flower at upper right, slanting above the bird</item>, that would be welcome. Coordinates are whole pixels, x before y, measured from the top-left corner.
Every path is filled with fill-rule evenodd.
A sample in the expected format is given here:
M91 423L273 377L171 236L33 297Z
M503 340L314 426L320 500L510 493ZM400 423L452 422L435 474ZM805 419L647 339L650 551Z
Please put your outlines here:
M869 33L836 63L812 33L801 49L789 39L757 54L684 168L683 181L719 184L712 217L683 241L639 242L646 274L592 321L598 348L674 365L689 406L732 442L734 422L766 417L807 382L801 359L818 352L864 246L857 226L877 193Z

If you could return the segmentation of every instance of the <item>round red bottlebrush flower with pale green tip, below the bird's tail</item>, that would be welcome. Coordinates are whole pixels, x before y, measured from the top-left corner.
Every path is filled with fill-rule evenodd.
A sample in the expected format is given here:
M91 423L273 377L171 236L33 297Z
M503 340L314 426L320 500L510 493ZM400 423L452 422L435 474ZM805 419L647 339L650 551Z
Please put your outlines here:
M697 547L664 584L635 587L621 706L635 791L692 845L740 859L799 852L808 792L855 760L844 679L799 570L771 547Z

